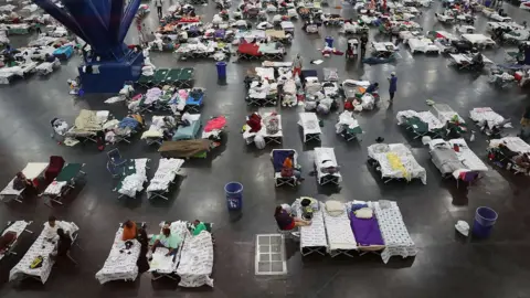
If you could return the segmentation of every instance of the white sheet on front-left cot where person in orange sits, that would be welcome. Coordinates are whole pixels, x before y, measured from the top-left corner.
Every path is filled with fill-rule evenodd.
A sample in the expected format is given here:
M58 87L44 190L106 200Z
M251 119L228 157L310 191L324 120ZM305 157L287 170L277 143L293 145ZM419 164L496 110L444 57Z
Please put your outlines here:
M96 273L96 279L102 285L112 280L135 280L138 276L136 262L140 256L141 245L137 240L128 241L132 243L132 246L127 251L126 242L121 240L123 233L124 228L118 228L110 253L103 268Z

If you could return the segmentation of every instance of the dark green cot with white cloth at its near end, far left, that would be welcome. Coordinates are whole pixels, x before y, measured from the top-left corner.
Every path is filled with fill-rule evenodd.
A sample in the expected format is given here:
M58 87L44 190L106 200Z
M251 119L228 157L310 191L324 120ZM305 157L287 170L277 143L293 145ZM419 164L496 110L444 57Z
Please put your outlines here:
M39 196L43 196L45 204L49 206L52 206L52 202L62 205L62 198L67 193L68 190L75 189L75 184L77 183L80 174L86 174L83 171L83 167L85 167L85 163L67 163L64 166L61 172L59 172L59 175L41 194L39 194Z

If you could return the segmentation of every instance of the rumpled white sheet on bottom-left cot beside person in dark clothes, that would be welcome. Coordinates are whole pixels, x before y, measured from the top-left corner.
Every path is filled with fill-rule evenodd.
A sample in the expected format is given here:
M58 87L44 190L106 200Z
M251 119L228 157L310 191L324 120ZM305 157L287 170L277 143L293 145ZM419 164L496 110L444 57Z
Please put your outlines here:
M75 223L66 223L61 222L64 232L70 233L70 235L74 234L80 230L80 227ZM43 231L44 232L44 231ZM23 278L24 275L36 277L41 280L42 284L45 284L50 274L52 273L52 267L55 260L50 257L57 248L57 238L56 236L52 242L50 242L44 233L41 233L35 242L31 245L30 249L24 254L22 259L14 266L11 272L9 272L9 281ZM42 266L39 268L30 268L31 263L38 257L42 256Z

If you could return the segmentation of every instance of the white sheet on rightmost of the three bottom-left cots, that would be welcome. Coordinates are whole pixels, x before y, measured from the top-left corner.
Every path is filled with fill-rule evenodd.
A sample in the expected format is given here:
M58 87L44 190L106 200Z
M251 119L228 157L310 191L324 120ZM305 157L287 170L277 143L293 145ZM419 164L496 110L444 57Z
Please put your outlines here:
M206 285L213 287L213 279L210 277L212 268L212 234L202 231L197 236L187 236L177 268L177 274L180 276L179 286L195 288Z

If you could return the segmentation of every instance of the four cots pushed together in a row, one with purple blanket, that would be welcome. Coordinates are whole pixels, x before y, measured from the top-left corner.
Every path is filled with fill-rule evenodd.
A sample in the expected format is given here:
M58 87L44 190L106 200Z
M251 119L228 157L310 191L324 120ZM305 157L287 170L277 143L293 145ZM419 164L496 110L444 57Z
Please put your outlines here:
M298 216L304 214L300 204L304 199L297 199L292 206L292 212ZM322 256L329 254L331 257L338 255L353 257L353 252L361 255L377 253L386 264L392 256L405 258L416 255L417 249L396 202L322 203L314 201L310 205L311 224L299 227L303 256L316 253ZM361 216L357 213L360 209L370 210L370 215Z

